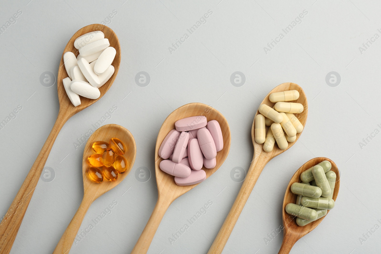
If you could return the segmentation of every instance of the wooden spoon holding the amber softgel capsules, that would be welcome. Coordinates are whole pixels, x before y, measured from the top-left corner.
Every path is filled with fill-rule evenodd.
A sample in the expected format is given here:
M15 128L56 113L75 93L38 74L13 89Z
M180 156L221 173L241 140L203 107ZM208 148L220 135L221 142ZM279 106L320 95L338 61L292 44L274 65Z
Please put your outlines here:
M87 176L86 170L90 166L87 162L87 158L94 154L95 152L91 148L91 145L96 141L109 142L110 138L117 137L126 146L126 153L123 155L128 163L128 168L123 174L119 174L116 181L110 182L104 179L101 183L93 182ZM81 226L82 220L85 217L87 210L89 209L91 203L99 198L102 194L108 192L130 173L132 166L134 165L136 157L136 145L135 140L128 129L115 124L104 125L97 129L86 142L85 150L83 151L82 160L82 176L83 176L83 199L82 202L75 213L73 219L70 221L69 226L67 226L64 234L59 240L56 248L54 249L54 254L64 254L69 253L69 250L73 244L74 238L78 233L79 227Z

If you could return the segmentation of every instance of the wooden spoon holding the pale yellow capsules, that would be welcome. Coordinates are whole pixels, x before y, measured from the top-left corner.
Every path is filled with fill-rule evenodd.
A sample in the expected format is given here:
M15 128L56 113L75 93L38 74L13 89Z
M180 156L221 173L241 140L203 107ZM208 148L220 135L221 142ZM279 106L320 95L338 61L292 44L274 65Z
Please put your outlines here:
M299 99L293 102L298 102L304 105L304 111L300 114L296 114L296 117L299 119L299 121L302 123L303 128L304 125L306 125L307 120L307 113L308 113L308 105L307 105L307 98L306 94L304 93L303 89L296 85L295 83L283 83L279 86L275 87L270 91L269 94L263 99L261 104L267 104L270 107L272 107L275 103L271 102L269 100L269 96L272 93L281 92L281 91L287 91L287 90L298 90L299 92ZM257 110L255 115L258 115L259 112ZM255 117L254 117L255 119ZM245 203L247 199L250 196L251 191L254 188L255 183L258 180L259 175L261 174L264 166L275 156L285 152L287 149L289 149L295 142L298 140L301 133L296 134L296 140L294 142L289 142L288 147L285 150L279 149L277 144L274 145L274 149L272 149L271 152L267 153L263 150L263 144L258 144L255 142L255 133L254 133L254 121L253 125L251 126L251 139L253 141L254 145L254 155L253 160L251 161L250 168L247 172L247 176L245 180L243 181L242 187L237 195L237 198L235 198L234 204L232 208L229 211L229 214L227 215L224 224L222 225L221 229L219 230L215 240L212 243L212 246L210 247L208 254L210 253L221 253L222 250L225 247L225 244L227 240L229 239L230 234L232 233L232 230L234 228L235 223L237 222L243 206L245 206Z

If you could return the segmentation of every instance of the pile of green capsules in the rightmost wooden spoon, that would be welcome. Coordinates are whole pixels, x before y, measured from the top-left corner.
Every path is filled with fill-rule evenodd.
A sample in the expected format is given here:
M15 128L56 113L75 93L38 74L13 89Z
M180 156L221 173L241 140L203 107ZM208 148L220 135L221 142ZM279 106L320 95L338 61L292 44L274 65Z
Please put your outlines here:
M331 163L322 161L300 175L302 182L294 182L291 192L298 195L296 204L286 205L286 212L297 216L296 224L305 226L320 219L335 206L332 199L336 183L336 173L331 171Z

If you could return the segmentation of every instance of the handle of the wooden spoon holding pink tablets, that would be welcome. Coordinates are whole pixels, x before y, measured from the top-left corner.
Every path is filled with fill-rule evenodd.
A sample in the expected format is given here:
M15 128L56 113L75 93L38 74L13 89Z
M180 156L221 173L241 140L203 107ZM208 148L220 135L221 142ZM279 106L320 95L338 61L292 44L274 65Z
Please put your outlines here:
M173 200L169 200L165 196L161 196L159 193L154 211L152 211L151 217L147 222L146 227L144 227L143 232L141 233L138 241L136 242L134 248L131 251L131 254L145 254L148 251L148 248L152 242L152 239L155 236L156 230L159 227L160 222L163 219L163 216L172 203Z

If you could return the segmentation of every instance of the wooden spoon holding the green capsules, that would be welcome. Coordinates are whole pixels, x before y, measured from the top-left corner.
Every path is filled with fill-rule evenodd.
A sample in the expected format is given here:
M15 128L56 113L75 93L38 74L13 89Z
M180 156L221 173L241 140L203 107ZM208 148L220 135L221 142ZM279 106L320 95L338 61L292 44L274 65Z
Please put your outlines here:
M290 253L292 246L298 241L300 238L303 236L307 235L309 232L311 232L317 225L319 225L320 222L325 218L321 217L318 220L315 220L304 227L298 226L296 224L296 217L291 216L286 212L286 205L288 203L295 203L296 201L296 196L294 193L291 192L291 184L294 182L301 182L300 180L300 174L305 171L306 169L309 169L316 164L322 162L322 161L329 161L332 165L331 170L336 173L336 183L335 183L335 190L333 191L333 197L332 199L336 201L337 195L339 193L339 187L340 187L340 173L339 169L337 168L335 162L332 160L325 158L325 157L317 157L313 158L301 166L298 171L295 172L295 174L292 176L290 183L287 186L285 198L283 199L283 210L282 210L282 217L283 217L283 241L282 241L282 246L280 246L280 250L278 254L286 254ZM330 210L328 210L329 212ZM328 214L327 212L327 214ZM327 215L326 215L327 216Z

